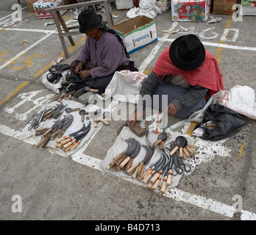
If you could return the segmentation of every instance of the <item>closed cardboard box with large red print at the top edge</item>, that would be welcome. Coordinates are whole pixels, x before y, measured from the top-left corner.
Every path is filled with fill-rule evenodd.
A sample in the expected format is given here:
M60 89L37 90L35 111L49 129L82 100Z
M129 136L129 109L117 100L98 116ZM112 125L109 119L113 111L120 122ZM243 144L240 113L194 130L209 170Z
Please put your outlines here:
M172 0L172 21L207 21L210 0Z

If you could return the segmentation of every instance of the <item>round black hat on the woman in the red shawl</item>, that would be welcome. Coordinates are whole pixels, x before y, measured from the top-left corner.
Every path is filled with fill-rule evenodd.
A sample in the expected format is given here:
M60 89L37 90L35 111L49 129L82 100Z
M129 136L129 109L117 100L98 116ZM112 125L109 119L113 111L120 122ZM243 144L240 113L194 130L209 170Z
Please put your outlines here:
M178 37L169 50L171 62L182 71L193 71L205 60L205 47L196 35Z

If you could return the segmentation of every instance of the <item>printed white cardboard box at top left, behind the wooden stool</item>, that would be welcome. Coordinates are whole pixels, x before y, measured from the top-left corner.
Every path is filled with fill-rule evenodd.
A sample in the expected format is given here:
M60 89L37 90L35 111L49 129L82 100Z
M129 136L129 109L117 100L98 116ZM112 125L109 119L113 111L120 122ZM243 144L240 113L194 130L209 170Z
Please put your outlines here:
M45 12L45 9L51 7L59 7L64 6L63 0L48 0L48 1L36 1L33 3L33 7L35 8L35 12L38 15L38 18L52 18L52 14L50 12ZM63 15L67 10L61 10L60 14Z

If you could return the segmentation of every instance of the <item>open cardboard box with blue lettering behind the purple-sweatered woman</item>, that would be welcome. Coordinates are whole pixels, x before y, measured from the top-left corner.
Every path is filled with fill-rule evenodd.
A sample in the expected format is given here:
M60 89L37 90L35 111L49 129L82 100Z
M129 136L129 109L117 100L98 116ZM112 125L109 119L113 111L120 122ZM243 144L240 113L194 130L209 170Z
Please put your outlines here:
M127 47L128 54L157 41L157 29L152 18L137 16L113 26Z

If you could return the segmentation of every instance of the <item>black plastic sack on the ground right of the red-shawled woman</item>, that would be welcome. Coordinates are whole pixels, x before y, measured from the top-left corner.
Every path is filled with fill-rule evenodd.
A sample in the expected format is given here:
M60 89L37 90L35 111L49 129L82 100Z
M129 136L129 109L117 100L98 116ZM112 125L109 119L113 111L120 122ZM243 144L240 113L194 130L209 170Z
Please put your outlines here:
M221 104L211 104L207 112L205 112L202 123L214 121L217 126L213 130L205 129L202 139L207 140L223 140L231 137L233 134L241 130L246 124L243 115L238 114L232 109L227 108Z

